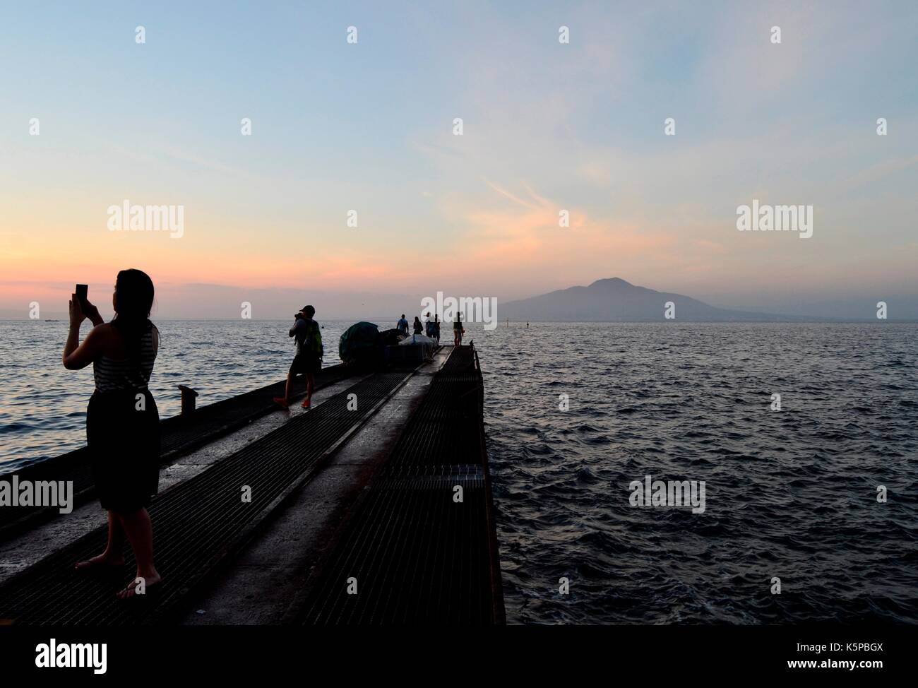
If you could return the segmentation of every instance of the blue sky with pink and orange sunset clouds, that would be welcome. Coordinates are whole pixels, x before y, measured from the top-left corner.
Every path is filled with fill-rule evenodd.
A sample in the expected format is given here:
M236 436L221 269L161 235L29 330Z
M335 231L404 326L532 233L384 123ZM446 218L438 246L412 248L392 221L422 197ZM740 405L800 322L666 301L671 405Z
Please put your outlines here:
M4 3L0 317L102 305L125 267L159 317L612 276L915 308L916 34L913 2ZM754 198L812 237L737 231ZM126 199L181 237L111 231Z

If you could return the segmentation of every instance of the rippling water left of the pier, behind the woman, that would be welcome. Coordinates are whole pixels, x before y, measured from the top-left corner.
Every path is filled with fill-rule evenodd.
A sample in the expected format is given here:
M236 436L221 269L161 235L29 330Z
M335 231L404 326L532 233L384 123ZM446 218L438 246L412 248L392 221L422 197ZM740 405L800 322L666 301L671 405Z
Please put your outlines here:
M320 322L324 365L340 363L338 338L353 322ZM290 324L156 321L162 343L150 389L160 416L180 411L180 384L196 389L202 406L284 379L295 354ZM0 321L0 470L85 445L93 367L63 367L67 329L67 321Z

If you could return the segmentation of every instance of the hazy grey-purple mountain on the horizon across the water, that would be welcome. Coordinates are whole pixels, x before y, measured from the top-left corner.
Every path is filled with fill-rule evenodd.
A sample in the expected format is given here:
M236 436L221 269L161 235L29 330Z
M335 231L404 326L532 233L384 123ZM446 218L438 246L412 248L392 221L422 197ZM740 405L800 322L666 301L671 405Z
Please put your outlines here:
M814 320L709 306L681 294L636 287L619 277L598 279L589 287L551 291L531 299L500 304L500 320L561 322L666 321L666 302L675 304L676 321L775 322Z

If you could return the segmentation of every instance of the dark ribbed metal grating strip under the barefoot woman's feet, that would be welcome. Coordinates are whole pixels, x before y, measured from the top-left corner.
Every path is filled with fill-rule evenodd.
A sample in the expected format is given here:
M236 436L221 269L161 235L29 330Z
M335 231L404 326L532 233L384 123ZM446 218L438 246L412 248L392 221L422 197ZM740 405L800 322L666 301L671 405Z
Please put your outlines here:
M169 620L411 374L411 369L377 373L162 492L150 509L156 567L165 581L158 594L127 603L115 598L133 579L128 546L128 561L115 581L73 570L75 561L104 549L102 527L0 586L0 619L90 626ZM352 393L359 411L347 410ZM252 489L251 503L242 502L243 486Z

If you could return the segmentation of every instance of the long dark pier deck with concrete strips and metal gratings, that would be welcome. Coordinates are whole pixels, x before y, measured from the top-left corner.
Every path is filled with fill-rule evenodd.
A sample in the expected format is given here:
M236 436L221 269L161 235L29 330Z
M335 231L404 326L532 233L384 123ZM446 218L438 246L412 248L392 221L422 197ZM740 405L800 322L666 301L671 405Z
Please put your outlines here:
M186 451L177 450L162 470L161 491L150 510L157 567L165 584L160 593L140 603L114 600L114 592L133 579L130 557L117 581L99 581L73 571L74 561L104 547L105 528L99 525L103 517L95 502L6 537L0 542L0 619L13 624L100 626L386 624L420 619L444 624L502 623L480 404L474 402L474 416L455 414L452 428L434 427L426 416L421 417L434 407L453 403L449 391L459 389L453 385L457 371L463 393L453 405L471 409L469 395L477 400L481 394L474 350L442 347L431 362L417 367L402 365L357 375L338 371L316 393L308 412L298 407L264 412L235 429L214 434L200 446L193 442ZM204 412L202 417L209 417L213 426L218 413L207 409L194 413ZM373 547L364 546L360 536L366 517L379 513L378 504L372 508L367 504L391 482L393 462L405 456L406 434L417 434L419 428L423 434L425 423L428 434L475 439L468 445L475 456L462 458L463 476L449 477L456 471L447 469L447 478L431 493L437 510L449 505L444 513L452 515L442 521L440 536L444 542L455 540L454 547L415 552L419 534L408 528L403 545L412 548L410 561L392 560L382 570L382 559ZM188 430L183 428L185 434ZM438 450L436 443L431 444L431 451L441 455L432 457L431 465L455 463L455 457L444 458L448 452L443 447ZM478 466L471 480L467 480L468 465ZM436 472L443 473L443 468ZM463 480L469 501L455 502L453 490ZM252 492L251 503L240 503L241 487ZM386 492L387 499L395 494ZM410 491L395 502L389 499L389 508L402 515L405 509L417 508L419 517L428 518L430 504L416 503L417 494ZM464 519L469 528L453 527L465 523ZM453 550L465 553L462 556L475 569L458 587L446 575L455 561L443 558L444 552ZM358 581L366 592L357 592L357 598L363 594L362 599L376 608L383 595L392 607L391 618L385 612L354 616L353 609L315 617L317 597L334 602L332 598L337 600L338 593L345 591L347 581L338 585L336 580L342 552L352 561L367 559L361 568L363 580ZM432 596L427 592L427 599L410 601L417 590L393 589L383 583L419 575L443 585L448 582L448 590ZM443 594L449 595L446 602L436 603ZM398 595L404 597L402 603L392 602ZM353 595L344 598L348 603L353 599ZM340 606L340 602L336 603ZM422 614L406 615L409 607ZM476 611L456 615L455 609Z

